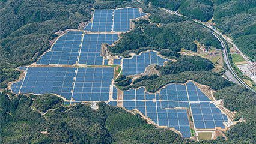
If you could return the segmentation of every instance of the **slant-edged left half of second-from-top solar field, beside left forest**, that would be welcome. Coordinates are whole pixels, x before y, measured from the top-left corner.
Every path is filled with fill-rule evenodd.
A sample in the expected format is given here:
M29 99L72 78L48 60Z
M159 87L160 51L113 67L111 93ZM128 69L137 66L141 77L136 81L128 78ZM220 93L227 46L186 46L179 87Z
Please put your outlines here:
M67 34L59 37L53 45L52 50L41 56L37 61L37 64L76 64L76 61L78 61L80 45L82 43L82 33L83 32L69 31Z

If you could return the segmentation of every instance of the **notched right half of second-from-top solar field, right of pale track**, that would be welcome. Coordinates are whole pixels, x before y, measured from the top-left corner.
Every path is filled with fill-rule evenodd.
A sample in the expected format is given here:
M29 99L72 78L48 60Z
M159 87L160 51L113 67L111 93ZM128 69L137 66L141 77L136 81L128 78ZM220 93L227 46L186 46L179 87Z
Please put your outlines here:
M103 65L103 57L100 56L102 44L112 45L118 38L118 34L85 34L78 63Z

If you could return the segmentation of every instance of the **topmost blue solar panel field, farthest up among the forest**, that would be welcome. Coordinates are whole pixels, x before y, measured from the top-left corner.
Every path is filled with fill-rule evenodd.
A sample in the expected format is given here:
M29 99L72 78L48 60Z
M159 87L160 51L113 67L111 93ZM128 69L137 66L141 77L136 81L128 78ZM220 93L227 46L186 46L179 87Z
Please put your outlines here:
M117 10L94 10L93 22L88 23L85 31L126 32L130 30L130 19L145 16L139 8L121 8Z

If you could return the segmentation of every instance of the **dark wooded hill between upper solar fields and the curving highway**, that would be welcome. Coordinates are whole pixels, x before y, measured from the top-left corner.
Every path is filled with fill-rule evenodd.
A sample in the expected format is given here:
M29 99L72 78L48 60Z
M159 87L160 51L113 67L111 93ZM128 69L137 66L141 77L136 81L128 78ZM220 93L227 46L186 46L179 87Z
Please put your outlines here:
M171 14L169 14L171 15ZM109 46L112 53L128 57L126 51L141 47L154 47L156 50L168 49L180 52L181 48L197 51L194 41L205 46L221 47L219 41L198 23L190 21L172 22L167 25L136 25L133 31L121 34L115 46ZM124 55L126 54L126 55Z

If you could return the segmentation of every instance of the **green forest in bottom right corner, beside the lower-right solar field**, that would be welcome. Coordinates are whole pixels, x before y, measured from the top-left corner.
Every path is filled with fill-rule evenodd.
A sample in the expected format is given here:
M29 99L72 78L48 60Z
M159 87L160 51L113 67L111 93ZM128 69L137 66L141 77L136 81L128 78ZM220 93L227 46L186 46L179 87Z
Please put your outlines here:
M245 118L227 131L230 143L256 143L256 94L243 86L230 86L217 91L214 96L224 100L224 106L236 111L234 120Z

